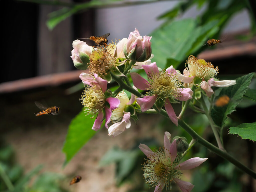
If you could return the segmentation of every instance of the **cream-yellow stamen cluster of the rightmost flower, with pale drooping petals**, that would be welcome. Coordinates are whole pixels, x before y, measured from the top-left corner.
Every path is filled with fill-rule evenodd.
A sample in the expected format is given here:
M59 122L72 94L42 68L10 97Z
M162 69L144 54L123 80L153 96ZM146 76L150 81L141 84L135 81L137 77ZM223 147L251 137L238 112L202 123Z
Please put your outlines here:
M214 68L210 62L206 62L204 59L197 59L195 56L190 55L186 61L186 69L191 76L205 79L208 81L210 78L214 78L218 73L218 67Z

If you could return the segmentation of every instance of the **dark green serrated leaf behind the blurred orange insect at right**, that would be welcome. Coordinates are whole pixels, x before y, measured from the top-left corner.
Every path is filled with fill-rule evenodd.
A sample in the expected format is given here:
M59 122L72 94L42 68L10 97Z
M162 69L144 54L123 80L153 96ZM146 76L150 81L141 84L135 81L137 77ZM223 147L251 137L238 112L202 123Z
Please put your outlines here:
M216 99L221 96L227 95L230 98L230 101L227 105L222 107L214 106L211 109L211 117L216 125L223 128L227 120L227 115L235 111L236 106L241 102L244 93L246 93L248 86L251 82L254 73L249 73L242 77L239 77L236 80L236 84L230 87L223 87Z

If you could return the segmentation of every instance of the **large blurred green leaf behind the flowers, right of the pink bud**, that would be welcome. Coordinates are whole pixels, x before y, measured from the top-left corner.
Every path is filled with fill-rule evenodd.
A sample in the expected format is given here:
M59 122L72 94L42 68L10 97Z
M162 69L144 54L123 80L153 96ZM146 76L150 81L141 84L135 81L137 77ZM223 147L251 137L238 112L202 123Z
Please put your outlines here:
M196 20L190 18L173 21L157 28L150 34L154 54L152 62L156 62L160 68L173 63L176 64L174 67L177 67L181 61L201 48L208 36L217 32L218 23L218 20L214 20L206 25L197 26Z

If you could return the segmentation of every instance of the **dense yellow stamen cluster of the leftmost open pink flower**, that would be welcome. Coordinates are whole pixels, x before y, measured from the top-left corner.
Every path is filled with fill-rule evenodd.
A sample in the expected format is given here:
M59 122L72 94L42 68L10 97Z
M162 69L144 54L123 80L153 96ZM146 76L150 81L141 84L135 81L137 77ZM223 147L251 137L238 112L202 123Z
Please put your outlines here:
M98 86L87 86L81 97L81 103L86 108L84 109L84 111L86 111L86 115L91 114L93 116L98 116L98 113L105 106L106 98L104 92Z

